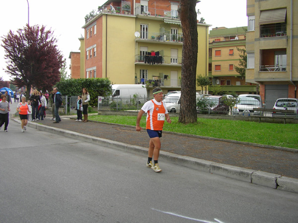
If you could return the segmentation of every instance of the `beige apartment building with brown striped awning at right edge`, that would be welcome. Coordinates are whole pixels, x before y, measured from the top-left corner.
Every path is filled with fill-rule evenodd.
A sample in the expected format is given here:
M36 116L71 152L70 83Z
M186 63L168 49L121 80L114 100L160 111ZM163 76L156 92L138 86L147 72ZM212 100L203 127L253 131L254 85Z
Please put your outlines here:
M266 108L298 98L298 1L247 0L246 82L260 85Z

